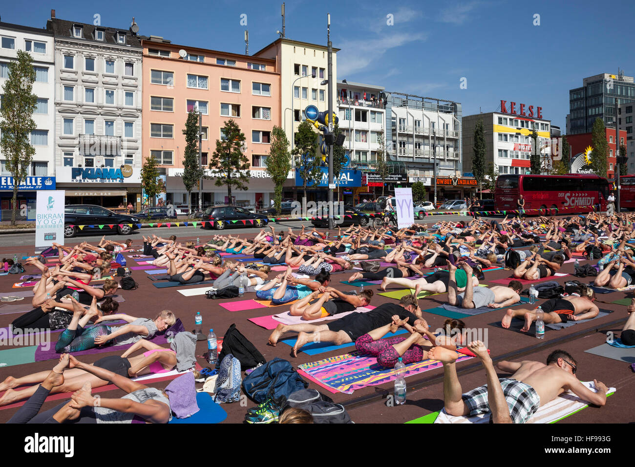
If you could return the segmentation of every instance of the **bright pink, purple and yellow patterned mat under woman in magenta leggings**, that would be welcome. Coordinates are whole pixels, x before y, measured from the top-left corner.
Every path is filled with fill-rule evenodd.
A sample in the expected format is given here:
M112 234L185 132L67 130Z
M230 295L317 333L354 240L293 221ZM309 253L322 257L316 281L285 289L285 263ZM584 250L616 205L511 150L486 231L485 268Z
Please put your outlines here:
M473 357L460 354L457 362L469 358ZM438 360L410 363L406 365L403 376L408 377L441 367L443 365ZM377 357L358 351L298 365L298 373L331 393L345 394L352 394L356 389L384 384L397 378L394 368L386 369L377 363Z

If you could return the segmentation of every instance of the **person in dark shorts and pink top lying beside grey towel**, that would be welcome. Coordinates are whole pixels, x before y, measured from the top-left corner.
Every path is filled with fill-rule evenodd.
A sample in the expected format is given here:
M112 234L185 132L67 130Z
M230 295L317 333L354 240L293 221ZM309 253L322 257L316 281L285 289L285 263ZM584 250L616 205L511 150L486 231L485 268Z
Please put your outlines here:
M138 351L143 351L144 353L142 355L130 356ZM60 356L60 360L64 358L64 355L66 354ZM92 363L92 365L109 370L126 378L144 376L147 374L161 374L171 371L177 366L177 353L171 349L166 349L153 342L141 339L135 342L128 350L121 354L121 356L105 356L97 360L97 362ZM3 396L0 397L0 406L29 398L37 391L39 386L30 386L28 388L20 388L19 390L15 390L15 388L25 386L26 384L36 385L37 383L43 382L47 375L48 372L42 371L23 377L6 377L6 379L0 383L0 392L6 391ZM92 388L100 388L101 386L110 384L110 381L101 379L79 368L67 368L64 370L63 375L64 384L60 384L60 386L51 389L50 394L78 391L87 382Z

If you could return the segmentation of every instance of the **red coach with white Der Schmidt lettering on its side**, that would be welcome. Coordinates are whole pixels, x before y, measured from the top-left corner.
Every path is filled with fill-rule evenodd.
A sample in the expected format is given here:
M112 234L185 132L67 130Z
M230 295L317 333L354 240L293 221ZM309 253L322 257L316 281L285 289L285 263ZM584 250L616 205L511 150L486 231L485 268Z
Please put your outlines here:
M606 210L608 180L598 175L499 175L496 180L494 208L518 209L520 195L525 198L525 209L568 208L599 205ZM588 212L579 210L578 212Z

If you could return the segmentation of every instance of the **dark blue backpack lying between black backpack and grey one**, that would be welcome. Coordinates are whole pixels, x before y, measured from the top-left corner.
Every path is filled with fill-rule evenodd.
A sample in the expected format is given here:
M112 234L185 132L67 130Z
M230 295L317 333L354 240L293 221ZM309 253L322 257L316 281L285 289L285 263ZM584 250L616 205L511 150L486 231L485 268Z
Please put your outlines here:
M225 348L225 342L223 342ZM244 393L254 402L262 403L268 398L288 397L309 383L304 381L291 363L282 358L274 358L261 367L253 370L243 380Z

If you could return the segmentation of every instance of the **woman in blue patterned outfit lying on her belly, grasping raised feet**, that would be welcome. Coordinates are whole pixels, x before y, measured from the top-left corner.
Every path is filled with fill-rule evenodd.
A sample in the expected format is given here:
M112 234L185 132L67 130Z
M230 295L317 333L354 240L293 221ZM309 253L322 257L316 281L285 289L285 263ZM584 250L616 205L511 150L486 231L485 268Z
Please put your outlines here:
M256 297L259 300L271 300L274 305L283 305L311 295L313 290L327 287L330 282L331 274L324 271L319 273L314 280L294 278L291 275L291 267L287 266L286 273L278 274L265 283L257 290Z

